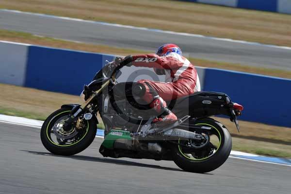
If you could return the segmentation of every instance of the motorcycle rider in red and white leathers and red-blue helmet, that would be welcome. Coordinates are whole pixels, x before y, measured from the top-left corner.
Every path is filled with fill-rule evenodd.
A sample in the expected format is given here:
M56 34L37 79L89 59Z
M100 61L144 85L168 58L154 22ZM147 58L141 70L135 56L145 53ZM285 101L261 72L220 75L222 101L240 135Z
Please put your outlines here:
M175 44L164 44L156 54L128 55L121 66L153 68L158 75L165 75L165 82L139 80L132 92L141 96L160 116L153 123L158 127L175 123L177 116L167 108L165 101L175 100L200 91L197 71L190 61L182 56Z

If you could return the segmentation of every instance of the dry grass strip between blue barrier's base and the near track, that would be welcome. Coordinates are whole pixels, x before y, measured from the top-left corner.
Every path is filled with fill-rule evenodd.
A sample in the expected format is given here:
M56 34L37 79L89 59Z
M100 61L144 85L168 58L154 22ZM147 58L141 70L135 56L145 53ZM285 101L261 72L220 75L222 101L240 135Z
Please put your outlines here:
M0 114L44 120L63 104L81 103L78 96L0 84ZM232 135L233 149L267 156L291 158L291 128L241 121L241 133L229 119L224 123ZM98 121L101 118L98 116ZM98 127L103 128L100 122Z

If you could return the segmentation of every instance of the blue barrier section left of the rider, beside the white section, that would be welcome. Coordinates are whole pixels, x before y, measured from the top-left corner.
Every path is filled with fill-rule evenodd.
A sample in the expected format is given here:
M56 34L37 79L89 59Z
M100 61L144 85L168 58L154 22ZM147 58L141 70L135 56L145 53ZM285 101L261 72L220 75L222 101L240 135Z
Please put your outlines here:
M113 55L30 46L25 87L78 95Z

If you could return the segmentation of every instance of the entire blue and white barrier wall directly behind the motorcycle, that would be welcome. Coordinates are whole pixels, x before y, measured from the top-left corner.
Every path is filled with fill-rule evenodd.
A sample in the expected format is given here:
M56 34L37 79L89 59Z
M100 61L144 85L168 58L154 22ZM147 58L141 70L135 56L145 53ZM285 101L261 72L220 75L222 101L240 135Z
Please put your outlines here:
M32 45L19 47L19 43L7 44L0 41L0 48L11 48L10 53L14 54L9 55L9 50L0 52L1 83L75 95L81 93L83 85L92 80L105 60L111 61L114 57ZM134 71L134 68L128 68L124 75L131 75L129 70ZM244 106L240 119L291 127L291 80L219 69L197 70L203 90L225 92L234 102Z

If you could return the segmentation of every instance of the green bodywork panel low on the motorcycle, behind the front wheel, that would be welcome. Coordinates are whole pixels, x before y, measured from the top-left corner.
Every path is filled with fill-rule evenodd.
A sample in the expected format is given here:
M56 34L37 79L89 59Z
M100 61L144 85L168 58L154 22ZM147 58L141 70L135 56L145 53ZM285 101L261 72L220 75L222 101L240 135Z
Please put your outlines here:
M113 148L114 141L117 139L131 140L129 131L115 130L112 129L108 135L104 137L102 145L106 148Z

